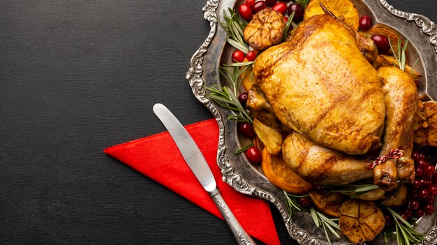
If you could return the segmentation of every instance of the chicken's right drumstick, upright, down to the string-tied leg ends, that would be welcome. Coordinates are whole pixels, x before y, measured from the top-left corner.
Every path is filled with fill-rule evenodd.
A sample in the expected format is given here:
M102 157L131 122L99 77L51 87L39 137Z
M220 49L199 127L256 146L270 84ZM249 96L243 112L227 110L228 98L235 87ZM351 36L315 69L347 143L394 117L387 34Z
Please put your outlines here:
M414 180L413 150L413 117L419 101L417 87L413 79L395 67L382 67L378 74L383 78L385 95L385 128L383 147L380 156L391 150L402 149L401 159L390 159L373 169L373 179L382 189L397 187L397 180L406 182Z

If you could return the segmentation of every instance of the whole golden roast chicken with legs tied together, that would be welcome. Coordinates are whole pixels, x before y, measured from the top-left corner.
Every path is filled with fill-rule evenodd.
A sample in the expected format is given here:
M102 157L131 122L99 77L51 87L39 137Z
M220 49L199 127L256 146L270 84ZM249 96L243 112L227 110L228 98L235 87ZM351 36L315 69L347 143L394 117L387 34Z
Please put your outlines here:
M256 58L247 105L263 124L288 134L283 158L304 180L346 184L373 177L385 190L399 179L413 181L417 88L399 68L375 70L377 54L370 38L327 12ZM404 157L369 168L369 156L398 148Z

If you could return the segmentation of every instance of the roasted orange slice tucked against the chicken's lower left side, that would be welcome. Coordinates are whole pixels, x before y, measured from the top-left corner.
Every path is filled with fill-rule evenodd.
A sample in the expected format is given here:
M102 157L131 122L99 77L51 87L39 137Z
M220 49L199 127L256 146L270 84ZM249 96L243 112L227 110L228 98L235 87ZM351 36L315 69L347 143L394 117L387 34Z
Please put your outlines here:
M306 193L313 187L312 184L288 168L281 154L270 155L266 148L262 150L261 166L265 177L276 187L288 193Z

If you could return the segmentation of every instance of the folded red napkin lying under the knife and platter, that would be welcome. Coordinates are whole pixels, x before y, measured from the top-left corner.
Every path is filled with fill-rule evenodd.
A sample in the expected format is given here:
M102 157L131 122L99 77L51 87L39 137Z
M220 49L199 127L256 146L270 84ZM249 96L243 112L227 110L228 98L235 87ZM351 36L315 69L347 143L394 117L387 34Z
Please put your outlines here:
M221 171L216 164L216 120L197 122L186 126L186 130L205 156L218 190L243 228L265 244L280 244L267 201L239 193L221 180ZM223 219L214 201L188 168L168 132L114 145L104 152Z

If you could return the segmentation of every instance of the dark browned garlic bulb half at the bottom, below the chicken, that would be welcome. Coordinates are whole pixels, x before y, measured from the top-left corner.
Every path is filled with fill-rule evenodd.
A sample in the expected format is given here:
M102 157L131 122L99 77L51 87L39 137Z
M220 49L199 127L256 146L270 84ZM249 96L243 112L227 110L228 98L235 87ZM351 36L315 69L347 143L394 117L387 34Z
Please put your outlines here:
M384 228L383 212L369 200L350 199L341 205L339 225L350 242L373 240Z

